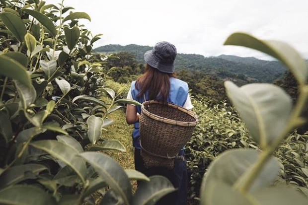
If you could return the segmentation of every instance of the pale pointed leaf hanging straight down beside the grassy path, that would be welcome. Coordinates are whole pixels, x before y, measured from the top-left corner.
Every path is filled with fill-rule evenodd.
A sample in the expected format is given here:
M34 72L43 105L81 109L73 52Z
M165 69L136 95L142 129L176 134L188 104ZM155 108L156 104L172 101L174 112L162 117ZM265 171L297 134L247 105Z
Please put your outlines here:
M102 126L103 126L103 119L96 117L95 115L92 115L88 117L86 120L86 123L88 125L88 137L92 144L96 144L96 141L99 139L99 137L102 134Z

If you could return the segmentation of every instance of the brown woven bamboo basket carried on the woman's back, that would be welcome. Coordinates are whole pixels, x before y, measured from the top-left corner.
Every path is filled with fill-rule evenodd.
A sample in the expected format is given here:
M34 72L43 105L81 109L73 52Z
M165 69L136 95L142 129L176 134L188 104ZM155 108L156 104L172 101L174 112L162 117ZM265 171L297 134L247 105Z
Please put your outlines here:
M181 106L155 100L144 102L141 109L139 131L144 165L172 169L178 152L198 123L197 115Z

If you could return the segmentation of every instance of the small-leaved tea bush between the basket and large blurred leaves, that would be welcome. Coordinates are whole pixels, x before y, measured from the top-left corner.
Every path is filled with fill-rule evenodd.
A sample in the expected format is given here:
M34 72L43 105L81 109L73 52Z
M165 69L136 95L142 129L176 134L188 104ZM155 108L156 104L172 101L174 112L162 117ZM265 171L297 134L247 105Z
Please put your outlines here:
M185 154L190 177L189 196L199 197L202 177L210 163L222 152L233 148L254 148L257 144L235 110L225 102L208 106L207 99L192 98L193 111L199 118Z

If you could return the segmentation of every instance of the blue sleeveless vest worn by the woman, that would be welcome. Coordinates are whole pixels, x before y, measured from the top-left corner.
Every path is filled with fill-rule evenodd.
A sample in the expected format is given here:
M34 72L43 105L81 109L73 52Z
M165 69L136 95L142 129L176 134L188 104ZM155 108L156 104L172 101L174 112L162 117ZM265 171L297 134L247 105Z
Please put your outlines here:
M137 97L139 90L135 87L136 81L133 81L131 84L131 93L133 99L143 103L148 100L148 92L144 96ZM171 102L175 105L184 106L188 96L188 84L180 79L170 77L170 91L168 96L168 102ZM141 106L136 106L137 112L141 113ZM141 149L140 147L140 134L139 134L139 123L135 123L133 130L133 146L135 148Z

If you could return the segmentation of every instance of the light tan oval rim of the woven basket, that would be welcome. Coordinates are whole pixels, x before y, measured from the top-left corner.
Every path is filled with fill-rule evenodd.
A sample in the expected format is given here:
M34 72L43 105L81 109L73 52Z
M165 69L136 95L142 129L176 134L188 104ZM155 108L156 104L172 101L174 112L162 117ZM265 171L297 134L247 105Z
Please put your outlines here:
M160 117L158 115L155 115L153 113L150 113L147 109L145 109L145 106L146 105L150 105L150 104L162 104L162 105L167 105L167 106L170 106L172 108L175 108L175 109L178 109L188 115L190 115L191 117L193 117L195 119L194 122L181 122L181 121L175 121L175 120L170 120L170 119L167 119L167 118L163 118L163 117ZM148 100L148 101L145 101L142 103L142 106L141 106L141 112L144 113L146 116L156 120L156 121L159 121L159 122L163 122L163 123L167 123L167 124L171 124L171 125L178 125L178 126L183 126L183 127L193 127L193 126L196 126L199 119L198 119L198 116L196 113L194 113L193 111L191 110L188 110L182 106L179 106L179 105L175 105L171 102L161 102L161 101L157 101L157 100Z

